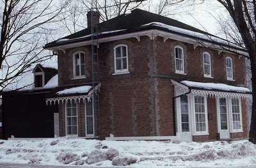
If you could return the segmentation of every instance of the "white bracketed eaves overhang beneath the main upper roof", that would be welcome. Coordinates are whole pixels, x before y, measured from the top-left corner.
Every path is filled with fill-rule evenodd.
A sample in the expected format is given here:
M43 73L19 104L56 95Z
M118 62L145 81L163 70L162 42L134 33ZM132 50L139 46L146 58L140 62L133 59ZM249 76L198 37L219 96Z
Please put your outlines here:
M219 53L221 52L229 52L229 53L236 53L244 56L248 56L248 52L244 48L238 48L228 44L223 44L216 42L214 40L207 40L202 39L195 36L190 36L188 34L182 34L180 32L174 31L166 31L162 27L148 26L148 27L141 27L141 29L133 29L130 31L117 31L109 34L99 34L98 35L98 43L105 43L109 41L116 41L118 39L127 39L127 38L136 38L140 41L141 36L148 36L150 39L155 39L157 36L160 36L166 41L167 39L175 39L177 41L182 41L184 43L190 43L196 46L205 46L207 48L212 48L214 50L218 50ZM207 36L207 34L205 34ZM76 38L76 39L68 39L67 41L61 41L59 43L45 45L45 49L52 50L58 53L58 50L62 50L65 53L67 48L74 48L77 46L85 46L85 45L92 45L92 36L84 36L84 38Z

